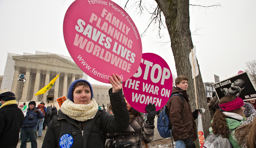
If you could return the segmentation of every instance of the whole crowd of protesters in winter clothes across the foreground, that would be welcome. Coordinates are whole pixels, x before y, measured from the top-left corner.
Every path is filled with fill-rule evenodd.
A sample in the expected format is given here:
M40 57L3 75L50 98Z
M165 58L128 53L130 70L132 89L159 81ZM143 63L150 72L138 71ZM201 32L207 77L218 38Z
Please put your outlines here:
M127 102L117 74L110 76L109 82L112 88L107 109L104 106L100 109L93 99L91 84L83 79L71 83L68 99L58 111L55 106L45 107L44 102L36 106L36 102L31 101L24 116L14 93L0 94L0 147L17 147L20 133L21 148L26 148L28 138L31 148L37 148L37 138L42 136L45 127L42 148L142 148L142 143L152 142L154 118L159 114L155 104L147 105L145 116ZM196 147L195 120L200 110L191 110L188 87L188 78L178 76L166 104L175 148ZM229 139L233 148L256 147L255 100L244 102L234 95L219 99L215 93L206 100L212 119L210 133Z

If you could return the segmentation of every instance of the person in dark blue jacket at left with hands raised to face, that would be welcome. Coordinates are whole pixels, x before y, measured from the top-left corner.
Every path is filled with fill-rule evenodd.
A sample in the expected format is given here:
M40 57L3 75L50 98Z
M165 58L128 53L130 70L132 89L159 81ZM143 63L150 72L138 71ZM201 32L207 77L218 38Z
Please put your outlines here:
M38 118L44 118L45 115L40 110L36 109L35 106L36 102L34 101L28 103L28 111L21 126L21 148L27 147L28 137L31 141L31 148L37 148L36 131Z

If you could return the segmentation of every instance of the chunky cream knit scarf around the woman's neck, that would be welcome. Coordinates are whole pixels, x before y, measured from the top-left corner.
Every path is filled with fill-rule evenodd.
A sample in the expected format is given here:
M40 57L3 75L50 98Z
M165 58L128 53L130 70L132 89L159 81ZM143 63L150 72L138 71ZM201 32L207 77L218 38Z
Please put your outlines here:
M87 105L75 104L67 99L61 107L62 113L78 121L87 121L94 118L98 109L99 107L95 99L91 99L90 103Z

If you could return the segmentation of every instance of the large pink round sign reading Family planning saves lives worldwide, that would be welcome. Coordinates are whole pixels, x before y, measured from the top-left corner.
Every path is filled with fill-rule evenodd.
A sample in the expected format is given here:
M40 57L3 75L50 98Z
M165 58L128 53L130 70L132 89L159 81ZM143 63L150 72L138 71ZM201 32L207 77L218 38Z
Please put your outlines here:
M137 71L142 57L139 32L130 16L111 0L76 0L67 10L63 34L66 47L83 72L109 83Z

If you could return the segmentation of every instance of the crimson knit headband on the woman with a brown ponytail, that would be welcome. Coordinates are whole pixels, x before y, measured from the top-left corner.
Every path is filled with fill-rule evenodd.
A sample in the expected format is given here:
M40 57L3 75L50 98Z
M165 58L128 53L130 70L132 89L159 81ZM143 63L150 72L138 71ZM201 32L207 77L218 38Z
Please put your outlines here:
M243 99L237 97L233 101L219 104L219 105L223 111L233 111L233 110L236 110L236 109L239 109L240 107L242 107L244 105L244 102L243 102Z

